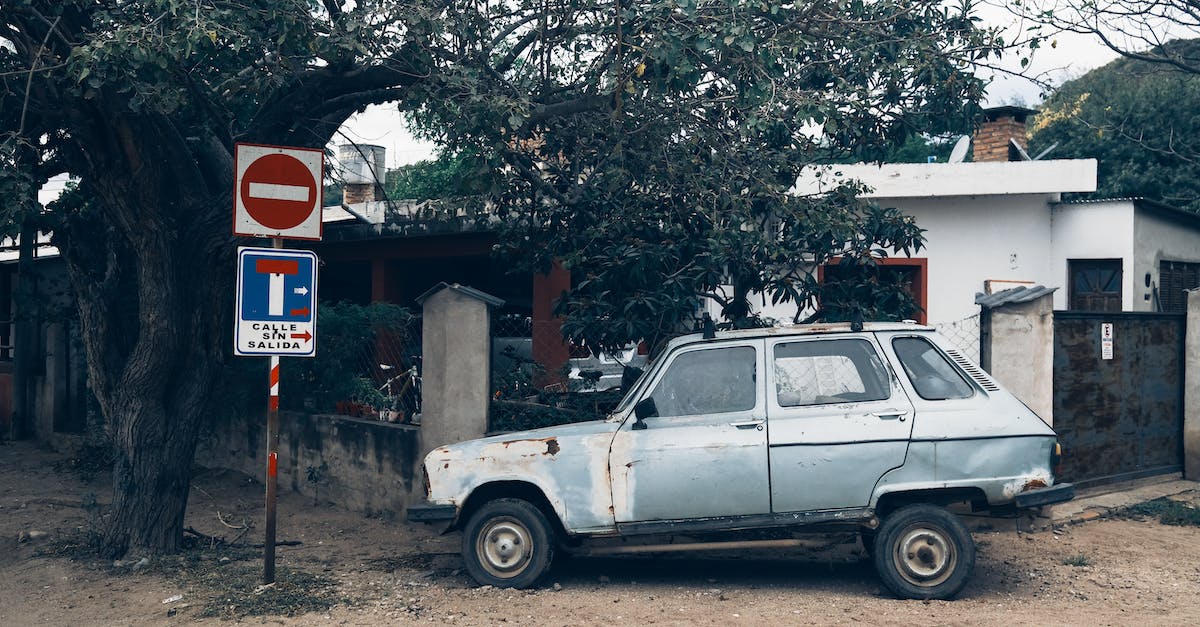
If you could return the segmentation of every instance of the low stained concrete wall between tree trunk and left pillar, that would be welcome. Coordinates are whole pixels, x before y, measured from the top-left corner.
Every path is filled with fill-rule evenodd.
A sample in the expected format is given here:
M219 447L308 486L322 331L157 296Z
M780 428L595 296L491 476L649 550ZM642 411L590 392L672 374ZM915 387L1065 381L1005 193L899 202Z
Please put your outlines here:
M283 412L280 417L278 485L323 502L370 514L404 513L409 495L421 491L413 472L418 428L347 416ZM266 473L266 418L236 418L205 435L196 464L230 468L263 479ZM308 480L308 467L328 470Z

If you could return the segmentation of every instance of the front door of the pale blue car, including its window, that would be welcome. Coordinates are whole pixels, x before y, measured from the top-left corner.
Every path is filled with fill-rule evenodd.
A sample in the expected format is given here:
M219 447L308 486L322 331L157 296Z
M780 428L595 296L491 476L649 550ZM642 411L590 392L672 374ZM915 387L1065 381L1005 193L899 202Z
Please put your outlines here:
M768 514L763 342L684 347L647 387L658 416L617 431L617 522Z

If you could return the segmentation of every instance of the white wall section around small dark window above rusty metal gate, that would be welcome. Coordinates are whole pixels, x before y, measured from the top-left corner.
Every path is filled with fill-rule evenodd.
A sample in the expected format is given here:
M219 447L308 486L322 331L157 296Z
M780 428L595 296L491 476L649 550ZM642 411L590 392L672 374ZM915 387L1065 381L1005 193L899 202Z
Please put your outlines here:
M1062 286L1055 292L1055 309L1068 306L1070 286L1067 280L1067 259L1122 259L1121 310L1134 309L1134 205L1132 201L1102 203L1056 204L1050 209L1051 255L1050 276L1043 285ZM1140 285L1140 283L1138 283Z

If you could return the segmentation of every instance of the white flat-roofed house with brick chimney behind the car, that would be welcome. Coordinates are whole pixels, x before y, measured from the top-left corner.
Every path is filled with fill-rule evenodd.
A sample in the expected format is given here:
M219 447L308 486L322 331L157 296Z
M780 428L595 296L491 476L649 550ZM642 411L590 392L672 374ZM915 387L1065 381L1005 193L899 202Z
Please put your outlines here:
M857 179L869 198L913 216L926 247L887 263L910 274L932 324L977 314L976 293L1021 285L1060 287L1055 309L1183 311L1183 289L1200 285L1200 216L1138 198L1062 202L1096 191L1096 160L1008 161L1024 157L1032 112L988 113L973 162L822 166L797 192Z

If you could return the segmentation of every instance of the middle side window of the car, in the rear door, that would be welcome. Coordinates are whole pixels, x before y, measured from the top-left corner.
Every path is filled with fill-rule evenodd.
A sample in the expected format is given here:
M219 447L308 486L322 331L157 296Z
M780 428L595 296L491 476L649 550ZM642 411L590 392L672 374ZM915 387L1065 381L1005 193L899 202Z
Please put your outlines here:
M884 400L892 395L887 369L865 340L776 344L774 363L780 407Z

